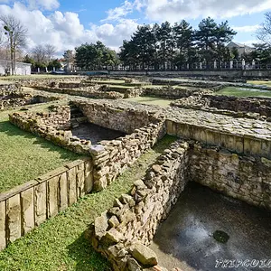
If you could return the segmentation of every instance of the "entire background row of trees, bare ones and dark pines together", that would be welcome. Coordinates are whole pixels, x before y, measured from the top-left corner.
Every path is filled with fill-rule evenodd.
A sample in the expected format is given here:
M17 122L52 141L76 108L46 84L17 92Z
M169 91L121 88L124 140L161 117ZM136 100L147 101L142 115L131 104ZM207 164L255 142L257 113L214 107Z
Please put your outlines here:
M13 15L0 16L0 23L4 31L4 35L0 35L0 57L11 61L12 74L16 60L32 63L34 70L61 68L61 60L54 57L56 49L51 44L36 45L22 57L27 29ZM229 51L226 45L236 34L228 21L216 23L210 17L201 20L197 29L185 20L174 24L144 24L137 27L130 40L123 42L118 53L102 42L84 43L75 48L75 52L65 51L63 59L69 70L75 67L81 70L108 69L119 64L131 70L174 70L193 67L200 62L209 68L214 61L220 67L220 62L233 59L271 62L271 12L265 14L265 21L256 33L261 43L254 44L255 50L243 55L238 55L236 48Z

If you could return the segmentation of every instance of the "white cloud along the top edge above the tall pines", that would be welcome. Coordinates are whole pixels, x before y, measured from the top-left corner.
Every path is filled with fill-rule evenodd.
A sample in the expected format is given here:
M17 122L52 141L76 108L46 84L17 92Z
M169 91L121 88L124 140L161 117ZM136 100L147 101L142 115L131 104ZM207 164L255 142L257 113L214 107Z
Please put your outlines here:
M254 14L271 8L271 0L135 0L145 6L145 15L155 21L179 22L211 16L230 18L243 14Z

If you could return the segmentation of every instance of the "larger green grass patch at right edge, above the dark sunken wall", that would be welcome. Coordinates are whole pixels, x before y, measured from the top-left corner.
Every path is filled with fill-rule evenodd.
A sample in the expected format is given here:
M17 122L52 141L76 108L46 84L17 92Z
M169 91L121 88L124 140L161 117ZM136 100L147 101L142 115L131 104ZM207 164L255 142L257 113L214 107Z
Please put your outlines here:
M220 89L215 92L217 95L227 95L227 96L236 96L236 97L271 97L270 90L262 89L245 89L245 88L236 88L228 87L225 89Z

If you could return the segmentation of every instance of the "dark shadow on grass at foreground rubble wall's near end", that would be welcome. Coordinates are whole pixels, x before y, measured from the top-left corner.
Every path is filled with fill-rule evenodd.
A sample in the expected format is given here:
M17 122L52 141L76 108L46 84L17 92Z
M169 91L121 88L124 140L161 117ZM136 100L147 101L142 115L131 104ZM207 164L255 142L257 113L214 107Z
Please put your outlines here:
M111 270L107 258L102 257L92 248L86 232L73 242L69 247L70 257L77 262L76 271L109 271Z

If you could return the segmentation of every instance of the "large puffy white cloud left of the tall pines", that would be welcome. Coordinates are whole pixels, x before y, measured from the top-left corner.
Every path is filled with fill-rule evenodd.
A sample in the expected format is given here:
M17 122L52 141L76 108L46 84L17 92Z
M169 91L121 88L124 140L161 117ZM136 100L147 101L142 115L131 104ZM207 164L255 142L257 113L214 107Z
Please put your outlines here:
M92 24L88 29L80 23L79 14L55 11L46 16L42 11L20 3L14 3L12 7L0 5L0 14L14 14L28 29L28 51L37 44L50 43L57 48L59 56L82 43L98 40L117 49L124 39L130 38L138 25L133 20L123 19L115 24Z

